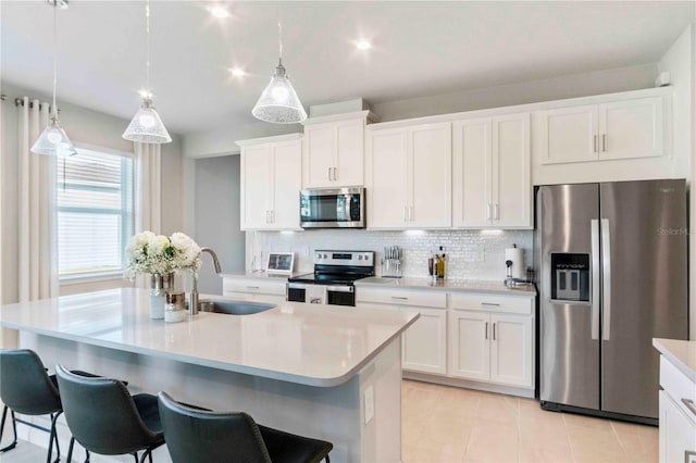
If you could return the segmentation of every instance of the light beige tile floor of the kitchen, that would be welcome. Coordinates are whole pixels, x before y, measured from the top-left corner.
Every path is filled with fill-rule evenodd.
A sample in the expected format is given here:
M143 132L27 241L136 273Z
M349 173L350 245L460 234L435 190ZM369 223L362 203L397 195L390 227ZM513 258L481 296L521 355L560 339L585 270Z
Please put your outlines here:
M545 412L531 399L425 383L405 380L402 391L405 463L658 461L656 427ZM3 445L9 437L5 431ZM2 463L45 460L46 450L28 442L0 454Z

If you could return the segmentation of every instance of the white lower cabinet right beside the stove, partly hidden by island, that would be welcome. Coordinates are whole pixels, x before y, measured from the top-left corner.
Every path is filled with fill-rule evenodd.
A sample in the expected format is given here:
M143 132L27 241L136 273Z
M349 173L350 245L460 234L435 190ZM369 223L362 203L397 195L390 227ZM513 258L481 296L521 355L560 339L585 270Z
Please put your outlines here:
M406 371L447 373L447 311L444 292L356 288L356 306L418 311L421 316L401 336L401 366Z

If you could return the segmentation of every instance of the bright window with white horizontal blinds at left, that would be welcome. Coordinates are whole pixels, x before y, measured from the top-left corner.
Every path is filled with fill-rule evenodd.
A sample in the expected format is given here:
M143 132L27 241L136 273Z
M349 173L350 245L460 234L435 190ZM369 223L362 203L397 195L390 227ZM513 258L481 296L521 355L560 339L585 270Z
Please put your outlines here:
M57 160L61 278L121 273L133 235L133 159L77 149Z

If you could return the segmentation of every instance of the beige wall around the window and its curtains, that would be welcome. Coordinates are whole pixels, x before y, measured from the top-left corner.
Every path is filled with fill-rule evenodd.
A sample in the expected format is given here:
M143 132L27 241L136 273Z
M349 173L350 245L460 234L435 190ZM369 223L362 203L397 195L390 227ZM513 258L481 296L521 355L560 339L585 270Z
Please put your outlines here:
M47 95L29 91L18 86L1 83L0 91L8 96L3 104L2 140L0 140L2 168L0 170L0 188L2 189L1 215L1 251L0 261L3 278L1 285L2 303L17 300L17 110L14 99L28 96L49 101ZM75 143L91 145L112 150L133 152L133 143L121 137L128 121L96 112L75 104L61 103L61 122L71 140ZM133 111L137 109L137 101L133 103ZM162 229L160 233L171 234L184 226L184 170L179 137L172 134L173 142L162 146ZM61 287L61 293L75 293L98 289L127 286L123 278L66 285Z

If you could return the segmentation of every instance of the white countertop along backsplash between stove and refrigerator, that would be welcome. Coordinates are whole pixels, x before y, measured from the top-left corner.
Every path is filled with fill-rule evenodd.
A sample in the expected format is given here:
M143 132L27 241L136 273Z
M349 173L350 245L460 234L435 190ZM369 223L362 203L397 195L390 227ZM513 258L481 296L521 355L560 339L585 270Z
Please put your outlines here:
M381 286L413 289L435 289L445 291L493 292L510 296L532 297L536 295L534 285L508 288L502 280L436 279L431 278L382 278L378 276L356 280L356 286Z

